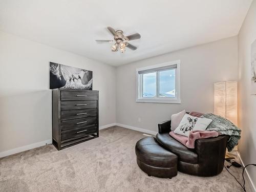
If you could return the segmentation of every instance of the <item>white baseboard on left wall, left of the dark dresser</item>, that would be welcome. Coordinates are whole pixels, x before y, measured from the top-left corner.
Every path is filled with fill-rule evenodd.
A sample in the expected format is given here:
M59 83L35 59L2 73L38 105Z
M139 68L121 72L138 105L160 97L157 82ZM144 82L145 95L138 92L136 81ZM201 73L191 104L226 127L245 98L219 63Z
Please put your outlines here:
M29 145L25 145L25 146L20 146L20 147L17 147L17 148L13 148L12 150L0 152L0 158L1 157L6 157L6 156L9 156L9 155L13 155L13 154L16 154L16 153L19 153L19 152L24 152L24 151L27 151L27 150L31 150L32 148L36 148L36 147L39 147L39 146L44 146L45 144L51 144L51 143L52 143L52 139L49 139L49 140L40 141L40 142L37 142L37 143L32 143L32 144L29 144Z

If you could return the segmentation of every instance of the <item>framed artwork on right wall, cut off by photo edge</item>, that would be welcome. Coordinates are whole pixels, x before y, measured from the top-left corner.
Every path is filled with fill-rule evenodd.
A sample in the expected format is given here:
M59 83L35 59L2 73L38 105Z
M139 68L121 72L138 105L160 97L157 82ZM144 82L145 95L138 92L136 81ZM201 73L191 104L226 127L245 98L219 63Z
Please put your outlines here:
M251 94L256 94L256 39L251 44Z

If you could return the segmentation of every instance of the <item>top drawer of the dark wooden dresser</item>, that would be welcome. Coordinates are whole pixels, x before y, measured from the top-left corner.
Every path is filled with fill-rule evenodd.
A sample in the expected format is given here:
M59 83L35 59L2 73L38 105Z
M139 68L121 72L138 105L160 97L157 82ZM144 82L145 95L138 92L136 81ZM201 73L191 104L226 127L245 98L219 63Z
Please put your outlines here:
M87 91L61 91L60 100L72 101L72 100L96 100L98 99L97 92Z

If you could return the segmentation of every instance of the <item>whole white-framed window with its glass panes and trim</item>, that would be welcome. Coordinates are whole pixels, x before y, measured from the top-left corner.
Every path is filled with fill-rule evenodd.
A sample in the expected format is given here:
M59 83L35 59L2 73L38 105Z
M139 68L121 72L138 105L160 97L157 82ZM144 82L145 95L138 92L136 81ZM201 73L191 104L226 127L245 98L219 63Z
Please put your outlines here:
M137 102L180 103L180 61L136 70Z

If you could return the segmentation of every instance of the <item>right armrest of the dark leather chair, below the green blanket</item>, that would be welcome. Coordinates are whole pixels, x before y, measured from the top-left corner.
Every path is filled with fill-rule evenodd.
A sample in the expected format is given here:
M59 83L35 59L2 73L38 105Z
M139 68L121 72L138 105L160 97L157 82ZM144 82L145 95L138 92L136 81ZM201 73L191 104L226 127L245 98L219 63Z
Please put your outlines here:
M200 168L207 168L208 172L216 172L215 174L219 174L222 171L227 140L227 135L196 140L195 151L198 154Z

